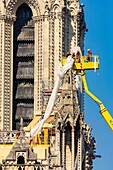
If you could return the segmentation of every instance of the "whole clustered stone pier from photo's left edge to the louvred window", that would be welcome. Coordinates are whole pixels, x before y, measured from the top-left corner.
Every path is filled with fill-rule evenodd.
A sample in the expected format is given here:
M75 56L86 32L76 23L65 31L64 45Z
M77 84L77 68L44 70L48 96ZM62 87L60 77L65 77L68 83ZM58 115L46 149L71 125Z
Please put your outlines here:
M12 130L12 81L13 81L13 21L14 16L0 17L0 68L1 70L1 100L0 100L0 116L1 130ZM1 91L2 90L2 91Z

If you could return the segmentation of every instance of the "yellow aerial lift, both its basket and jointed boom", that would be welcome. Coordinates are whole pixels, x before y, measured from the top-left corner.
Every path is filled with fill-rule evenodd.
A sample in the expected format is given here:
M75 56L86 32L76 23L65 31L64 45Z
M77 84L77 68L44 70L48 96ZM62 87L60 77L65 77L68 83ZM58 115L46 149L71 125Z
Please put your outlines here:
M65 64L66 62L66 57L62 58L62 65ZM81 75L83 85L85 92L95 101L100 105L100 114L103 116L105 121L107 122L108 126L111 128L113 131L113 118L111 117L110 113L108 110L105 108L104 104L95 96L93 95L89 90L86 82L86 73L84 72L85 70L96 70L99 69L99 57L98 56L91 56L90 60L87 60L87 56L79 56L79 58L74 56L74 64L73 68L76 70L77 75Z

